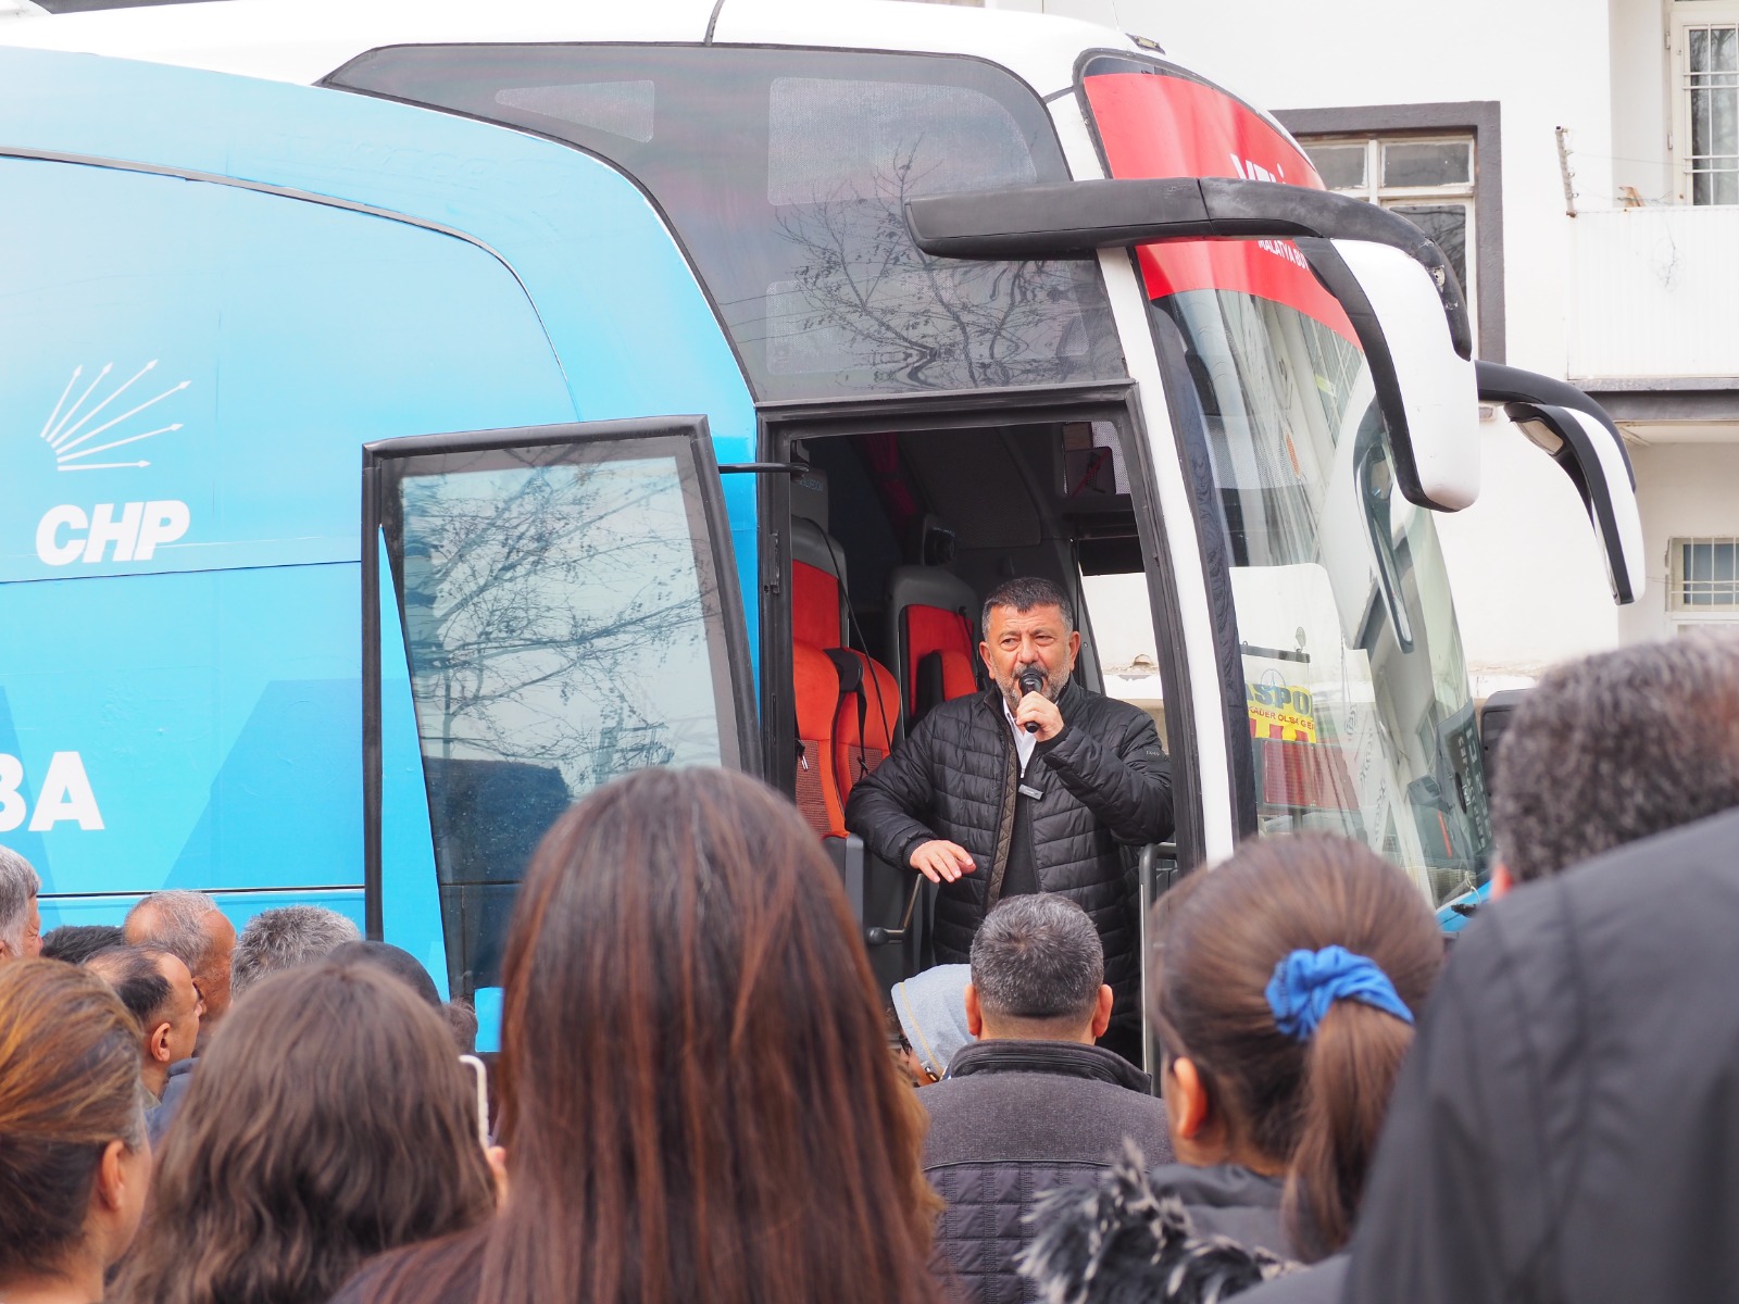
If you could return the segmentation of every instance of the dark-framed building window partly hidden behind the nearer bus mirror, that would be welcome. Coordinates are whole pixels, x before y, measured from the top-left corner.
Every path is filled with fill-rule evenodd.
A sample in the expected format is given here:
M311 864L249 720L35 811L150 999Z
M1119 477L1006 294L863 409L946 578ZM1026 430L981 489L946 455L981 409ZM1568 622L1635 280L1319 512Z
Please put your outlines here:
M1329 190L1381 203L1431 236L1475 308L1471 136L1306 137L1299 144Z

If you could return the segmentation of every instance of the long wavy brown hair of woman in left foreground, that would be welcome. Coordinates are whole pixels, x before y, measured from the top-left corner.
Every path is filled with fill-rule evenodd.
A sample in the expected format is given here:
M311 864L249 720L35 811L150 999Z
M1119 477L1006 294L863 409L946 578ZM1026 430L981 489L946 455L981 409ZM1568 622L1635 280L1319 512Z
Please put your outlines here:
M370 961L249 989L158 1154L129 1304L325 1304L367 1257L485 1219L496 1186L447 1021Z

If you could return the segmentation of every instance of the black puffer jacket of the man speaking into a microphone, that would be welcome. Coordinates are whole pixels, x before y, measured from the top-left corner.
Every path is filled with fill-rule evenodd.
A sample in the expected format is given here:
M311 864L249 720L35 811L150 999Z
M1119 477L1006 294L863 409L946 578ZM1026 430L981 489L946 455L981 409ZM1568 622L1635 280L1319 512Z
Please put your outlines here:
M1043 791L1033 807L1033 868L1042 892L1066 895L1092 916L1118 1014L1134 1014L1141 928L1132 857L1125 866L1122 847L1170 835L1170 762L1139 708L1071 682L1057 711L1063 732L1040 742L1026 768L1026 784ZM939 963L970 958L972 935L1002 895L1019 768L993 687L932 709L845 805L845 826L890 864L909 868L913 848L930 838L960 843L977 862L974 873L943 883Z

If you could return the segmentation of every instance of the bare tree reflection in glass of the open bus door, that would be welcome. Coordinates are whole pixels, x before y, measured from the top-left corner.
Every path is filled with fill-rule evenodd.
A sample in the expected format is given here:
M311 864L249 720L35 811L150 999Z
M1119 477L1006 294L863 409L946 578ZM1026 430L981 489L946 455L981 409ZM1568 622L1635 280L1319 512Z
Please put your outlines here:
M424 755L553 767L570 795L718 760L716 593L671 459L407 480L403 565Z

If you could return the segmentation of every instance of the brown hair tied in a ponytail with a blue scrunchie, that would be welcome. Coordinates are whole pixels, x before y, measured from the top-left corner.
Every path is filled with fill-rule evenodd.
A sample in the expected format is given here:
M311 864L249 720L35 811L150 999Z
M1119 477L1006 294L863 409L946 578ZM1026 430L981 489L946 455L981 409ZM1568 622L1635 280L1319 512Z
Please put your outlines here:
M1235 1146L1287 1168L1306 1259L1346 1245L1412 1021L1443 961L1419 888L1323 833L1245 843L1155 909L1149 1015Z

